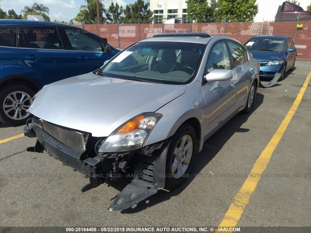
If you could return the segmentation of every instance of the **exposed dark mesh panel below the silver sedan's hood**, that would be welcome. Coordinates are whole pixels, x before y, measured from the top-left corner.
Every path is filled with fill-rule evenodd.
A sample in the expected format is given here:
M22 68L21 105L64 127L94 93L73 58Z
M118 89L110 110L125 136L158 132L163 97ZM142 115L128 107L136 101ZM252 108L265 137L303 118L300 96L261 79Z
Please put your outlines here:
M63 145L80 154L86 150L87 133L76 132L72 129L55 125L45 120L43 120L42 123L43 130Z

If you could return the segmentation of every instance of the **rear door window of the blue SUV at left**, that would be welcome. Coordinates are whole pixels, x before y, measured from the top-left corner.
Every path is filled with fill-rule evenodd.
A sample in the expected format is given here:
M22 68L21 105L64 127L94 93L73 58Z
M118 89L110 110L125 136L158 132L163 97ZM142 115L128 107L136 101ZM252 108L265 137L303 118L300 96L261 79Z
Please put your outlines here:
M25 27L19 35L18 47L47 50L63 50L56 27Z

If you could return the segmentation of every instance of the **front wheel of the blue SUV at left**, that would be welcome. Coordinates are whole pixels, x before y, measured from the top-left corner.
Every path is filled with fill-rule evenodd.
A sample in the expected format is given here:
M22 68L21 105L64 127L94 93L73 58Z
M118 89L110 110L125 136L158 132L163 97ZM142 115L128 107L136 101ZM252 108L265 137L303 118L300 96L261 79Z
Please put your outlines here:
M5 86L0 90L0 121L10 126L23 125L31 117L26 112L35 92L24 85Z

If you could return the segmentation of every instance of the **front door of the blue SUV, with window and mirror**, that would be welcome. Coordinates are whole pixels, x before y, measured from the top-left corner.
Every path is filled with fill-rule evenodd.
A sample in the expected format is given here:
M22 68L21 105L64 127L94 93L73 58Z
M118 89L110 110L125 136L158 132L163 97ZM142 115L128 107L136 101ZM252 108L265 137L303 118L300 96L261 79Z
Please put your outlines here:
M61 28L62 35L69 46L77 74L85 74L104 65L111 58L104 52L104 42L86 31L75 28Z

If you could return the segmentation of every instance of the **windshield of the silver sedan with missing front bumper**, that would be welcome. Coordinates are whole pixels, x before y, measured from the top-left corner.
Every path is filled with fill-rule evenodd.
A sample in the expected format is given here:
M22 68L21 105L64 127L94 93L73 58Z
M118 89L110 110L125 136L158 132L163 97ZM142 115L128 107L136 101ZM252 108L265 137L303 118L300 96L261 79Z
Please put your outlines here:
M199 67L205 46L186 42L138 42L121 51L98 73L142 82L187 83Z

